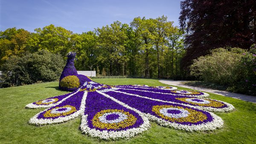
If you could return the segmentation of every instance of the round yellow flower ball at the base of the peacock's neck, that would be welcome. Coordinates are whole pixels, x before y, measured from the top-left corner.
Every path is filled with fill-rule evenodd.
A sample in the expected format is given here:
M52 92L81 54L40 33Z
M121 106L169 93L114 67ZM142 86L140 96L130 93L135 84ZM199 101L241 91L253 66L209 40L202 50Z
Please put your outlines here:
M61 79L61 87L78 88L80 86L79 78L76 75L69 75Z

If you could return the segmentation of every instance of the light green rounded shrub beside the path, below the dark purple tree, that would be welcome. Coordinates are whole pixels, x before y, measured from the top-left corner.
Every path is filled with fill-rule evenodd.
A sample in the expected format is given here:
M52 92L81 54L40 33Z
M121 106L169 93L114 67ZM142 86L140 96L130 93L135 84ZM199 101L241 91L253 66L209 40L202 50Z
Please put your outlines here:
M190 74L203 79L205 82L215 82L229 85L236 81L237 68L242 53L245 51L239 48L214 49L211 55L199 57L190 66Z

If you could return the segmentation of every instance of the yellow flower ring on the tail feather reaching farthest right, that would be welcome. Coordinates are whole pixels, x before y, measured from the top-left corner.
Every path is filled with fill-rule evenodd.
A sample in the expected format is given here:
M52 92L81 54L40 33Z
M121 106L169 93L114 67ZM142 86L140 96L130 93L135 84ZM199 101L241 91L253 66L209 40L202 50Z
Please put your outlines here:
M200 103L197 103L197 102L186 101L186 99L191 99L191 98L176 98L176 99L180 100L180 101L183 101L185 103L195 104L195 105L204 106L204 107L222 107L222 106L224 106L223 103L221 103L219 101L214 101L214 100L211 100L211 99L207 99L207 101L210 102L209 104L200 104Z

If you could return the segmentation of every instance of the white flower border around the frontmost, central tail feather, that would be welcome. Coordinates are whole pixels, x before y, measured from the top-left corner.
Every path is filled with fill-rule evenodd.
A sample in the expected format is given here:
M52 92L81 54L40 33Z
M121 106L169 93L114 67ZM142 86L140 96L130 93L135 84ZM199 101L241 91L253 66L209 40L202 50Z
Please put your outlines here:
M128 130L121 130L121 131L103 130L103 131L100 131L100 130L91 129L90 127L88 127L88 124L87 124L87 116L88 115L82 115L81 125L80 125L82 132L84 132L85 134L88 134L91 137L95 137L95 138L100 138L100 139L105 139L105 140L116 140L119 138L128 139L128 138L134 137L134 135L142 133L143 131L148 130L150 128L150 123L148 121L148 118L146 118L142 112L140 112L137 109L134 109L132 107L129 107L127 104L124 104L121 101L118 101L115 98L112 98L111 96L109 96L103 92L100 92L100 91L97 91L97 92L107 98L110 98L111 100L115 101L116 103L121 104L122 106L137 112L143 119L143 124L141 124L140 127L136 127L136 128L134 127L134 128L128 129Z

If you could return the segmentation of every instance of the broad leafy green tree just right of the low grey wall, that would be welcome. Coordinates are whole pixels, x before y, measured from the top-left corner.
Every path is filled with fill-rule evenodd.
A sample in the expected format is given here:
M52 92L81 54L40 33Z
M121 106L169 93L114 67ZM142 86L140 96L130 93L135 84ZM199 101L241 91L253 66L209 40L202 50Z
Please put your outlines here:
M99 52L98 60L102 63L108 63L110 75L120 74L120 64L126 63L126 50L124 42L127 39L122 23L116 21L110 26L103 26L101 29L95 29L96 34L99 36ZM113 70L116 70L114 72Z

